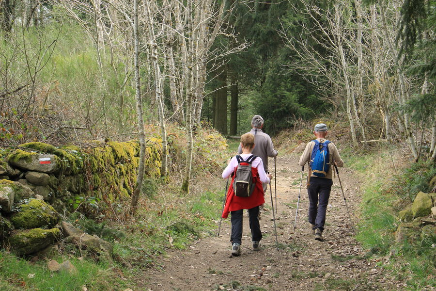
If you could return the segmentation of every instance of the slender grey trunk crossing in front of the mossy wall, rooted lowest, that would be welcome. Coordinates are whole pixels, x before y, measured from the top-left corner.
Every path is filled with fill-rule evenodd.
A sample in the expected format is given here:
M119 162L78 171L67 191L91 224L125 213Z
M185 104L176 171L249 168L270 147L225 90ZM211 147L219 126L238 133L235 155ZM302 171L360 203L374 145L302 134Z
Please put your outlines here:
M142 97L141 97L141 85L140 85L140 70L139 70L139 32L138 32L138 2L140 0L134 0L133 2L133 37L135 43L134 49L134 65L135 65L135 88L136 88L136 109L138 114L138 129L140 140L140 160L138 167L138 177L136 180L135 189L132 193L132 201L130 203L130 212L135 213L138 206L140 197L142 181L144 178L145 170L145 132L144 132L144 119L142 112Z

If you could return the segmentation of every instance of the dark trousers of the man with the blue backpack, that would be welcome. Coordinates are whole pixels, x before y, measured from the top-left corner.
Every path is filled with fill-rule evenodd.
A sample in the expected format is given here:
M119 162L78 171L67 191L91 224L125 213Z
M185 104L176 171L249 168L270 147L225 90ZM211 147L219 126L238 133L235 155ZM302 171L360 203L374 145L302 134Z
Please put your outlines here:
M309 222L315 225L315 229L324 230L326 223L326 210L328 198L330 197L332 179L311 177L310 186L307 189L309 194Z

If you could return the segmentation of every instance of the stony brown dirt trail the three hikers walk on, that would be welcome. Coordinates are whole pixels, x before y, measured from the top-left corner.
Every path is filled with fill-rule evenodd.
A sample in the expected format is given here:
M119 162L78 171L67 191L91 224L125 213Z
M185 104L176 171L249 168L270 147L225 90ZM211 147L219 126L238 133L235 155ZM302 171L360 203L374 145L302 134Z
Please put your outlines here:
M305 178L301 190L297 228L296 232L293 232L301 178L301 167L297 165L297 159L295 155L277 159L276 223L280 251L276 248L270 210L263 212L260 221L264 233L262 250L252 251L248 217L244 214L242 255L230 257L229 216L229 219L223 220L221 235L218 238L203 238L192 243L184 251L170 250L159 261L162 269L149 269L143 278L139 278L143 288L141 290L398 290L388 286L376 268L375 261L362 258L364 251L353 238L337 178L334 180L327 207L326 229L323 233L325 240L315 241L308 230L309 200L304 187ZM272 159L269 164L272 165L270 168L274 167ZM356 222L354 212L361 199L358 181L346 168L343 168L340 174L348 207L353 221ZM274 180L271 183L274 196L273 183ZM269 190L265 201L269 202L268 209L271 209ZM239 287L232 288L232 281L237 281Z

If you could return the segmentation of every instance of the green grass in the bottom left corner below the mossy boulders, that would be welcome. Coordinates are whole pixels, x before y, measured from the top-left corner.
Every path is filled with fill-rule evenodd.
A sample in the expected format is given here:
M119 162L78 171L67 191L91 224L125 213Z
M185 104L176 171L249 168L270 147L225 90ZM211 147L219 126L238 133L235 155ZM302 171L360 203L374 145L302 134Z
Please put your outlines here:
M78 275L52 273L46 261L30 264L12 254L0 251L0 291L79 291L125 290L128 284L110 271L107 264L97 264L76 258L56 258L58 262L70 259Z

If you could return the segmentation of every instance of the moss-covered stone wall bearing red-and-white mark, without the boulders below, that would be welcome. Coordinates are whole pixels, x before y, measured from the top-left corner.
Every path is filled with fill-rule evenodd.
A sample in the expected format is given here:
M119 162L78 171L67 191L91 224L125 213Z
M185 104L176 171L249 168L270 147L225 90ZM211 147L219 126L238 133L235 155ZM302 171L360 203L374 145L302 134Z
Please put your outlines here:
M147 177L160 176L161 154L161 140L149 138ZM15 150L0 148L0 178L29 187L57 210L72 208L77 197L98 197L114 202L132 194L139 155L138 141L95 143L86 148L27 143ZM50 170L46 171L48 168ZM44 183L35 183L38 173L45 173L41 175Z

